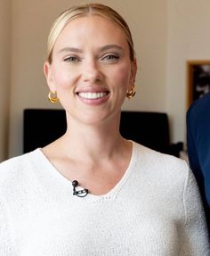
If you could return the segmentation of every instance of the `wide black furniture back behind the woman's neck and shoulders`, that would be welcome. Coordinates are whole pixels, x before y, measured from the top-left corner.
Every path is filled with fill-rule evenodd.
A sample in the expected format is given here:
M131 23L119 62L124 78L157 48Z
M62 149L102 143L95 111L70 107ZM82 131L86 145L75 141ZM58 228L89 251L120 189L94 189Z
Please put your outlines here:
M64 110L26 109L23 125L23 152L51 143L67 128ZM179 156L182 143L171 144L166 113L122 111L120 133L141 145Z

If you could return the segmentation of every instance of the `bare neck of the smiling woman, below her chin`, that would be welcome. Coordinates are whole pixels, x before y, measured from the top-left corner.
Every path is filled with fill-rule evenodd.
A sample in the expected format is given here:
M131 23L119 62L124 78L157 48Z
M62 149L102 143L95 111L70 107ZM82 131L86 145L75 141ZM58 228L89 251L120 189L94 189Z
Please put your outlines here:
M125 140L119 134L120 115L95 124L84 123L68 116L67 132L61 138L63 152L74 159L85 157L99 159L110 157Z

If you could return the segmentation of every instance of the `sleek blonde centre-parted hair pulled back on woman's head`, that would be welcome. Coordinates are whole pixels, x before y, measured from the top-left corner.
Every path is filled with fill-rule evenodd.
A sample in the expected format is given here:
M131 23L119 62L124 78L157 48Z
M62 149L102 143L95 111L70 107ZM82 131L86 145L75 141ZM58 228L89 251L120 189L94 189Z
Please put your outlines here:
M115 10L104 4L79 4L73 6L68 10L61 13L57 20L53 23L52 29L50 31L48 41L47 41L47 61L52 62L52 51L54 44L59 37L62 29L69 23L79 17L84 17L87 15L99 15L103 18L109 19L117 24L117 26L123 30L125 33L126 40L129 45L130 59L134 60L134 49L133 49L133 38L131 31L124 20L124 18L117 13Z

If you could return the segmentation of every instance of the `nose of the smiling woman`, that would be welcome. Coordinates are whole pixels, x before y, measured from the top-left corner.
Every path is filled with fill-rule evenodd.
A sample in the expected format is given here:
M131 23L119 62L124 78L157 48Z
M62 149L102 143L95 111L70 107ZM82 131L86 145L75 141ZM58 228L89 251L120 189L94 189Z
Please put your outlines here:
M102 73L100 65L97 60L86 60L84 62L83 79L85 82L99 82L101 81Z

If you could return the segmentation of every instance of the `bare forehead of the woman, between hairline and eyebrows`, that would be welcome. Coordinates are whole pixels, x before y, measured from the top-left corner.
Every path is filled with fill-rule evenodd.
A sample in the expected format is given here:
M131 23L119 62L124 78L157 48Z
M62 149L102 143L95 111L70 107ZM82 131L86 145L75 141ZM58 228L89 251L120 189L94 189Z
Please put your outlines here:
M69 21L61 30L54 46L66 41L79 44L84 40L92 44L117 43L128 46L123 29L116 22L99 15L88 15Z

